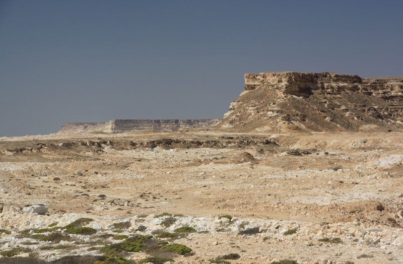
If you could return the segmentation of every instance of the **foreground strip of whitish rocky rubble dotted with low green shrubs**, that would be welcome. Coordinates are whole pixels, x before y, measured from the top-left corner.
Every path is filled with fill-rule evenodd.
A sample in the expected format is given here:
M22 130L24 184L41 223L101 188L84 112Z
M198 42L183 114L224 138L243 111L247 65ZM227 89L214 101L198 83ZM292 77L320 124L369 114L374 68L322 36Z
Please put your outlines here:
M83 234L65 228L80 219L85 219L82 226L88 227L80 231ZM236 259L231 262L239 263L281 259L298 263L399 263L403 253L401 228L359 222L312 223L230 216L219 219L167 213L125 218L56 212L37 215L19 207L5 207L1 225L8 227L1 231L3 256L47 260L105 254L130 237L151 240L145 240L139 248L121 249L125 259L134 261L159 256L176 263L214 263L227 255ZM160 249L172 244L184 245L188 252L175 254Z

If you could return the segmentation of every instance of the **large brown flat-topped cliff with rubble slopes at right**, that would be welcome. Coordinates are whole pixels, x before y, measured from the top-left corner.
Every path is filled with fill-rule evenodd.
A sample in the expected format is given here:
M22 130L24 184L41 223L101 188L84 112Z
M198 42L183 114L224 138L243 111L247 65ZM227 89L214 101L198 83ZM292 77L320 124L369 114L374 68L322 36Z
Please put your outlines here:
M335 73L245 74L245 90L219 127L237 131L395 131L403 128L403 77Z

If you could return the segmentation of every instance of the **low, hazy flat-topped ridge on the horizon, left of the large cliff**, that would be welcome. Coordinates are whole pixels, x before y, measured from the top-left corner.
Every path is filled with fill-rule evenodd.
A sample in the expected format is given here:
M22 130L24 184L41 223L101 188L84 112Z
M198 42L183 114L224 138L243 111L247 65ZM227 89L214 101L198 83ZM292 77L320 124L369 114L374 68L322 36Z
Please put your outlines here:
M136 130L171 130L216 125L220 119L113 119L101 123L66 123L59 133L104 132L122 133Z

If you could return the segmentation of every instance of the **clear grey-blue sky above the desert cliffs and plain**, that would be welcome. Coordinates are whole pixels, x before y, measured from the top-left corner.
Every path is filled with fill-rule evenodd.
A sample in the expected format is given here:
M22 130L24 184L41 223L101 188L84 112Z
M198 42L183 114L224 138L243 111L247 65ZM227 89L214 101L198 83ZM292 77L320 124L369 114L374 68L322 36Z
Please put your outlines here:
M403 1L0 0L0 137L222 118L243 75L403 76Z

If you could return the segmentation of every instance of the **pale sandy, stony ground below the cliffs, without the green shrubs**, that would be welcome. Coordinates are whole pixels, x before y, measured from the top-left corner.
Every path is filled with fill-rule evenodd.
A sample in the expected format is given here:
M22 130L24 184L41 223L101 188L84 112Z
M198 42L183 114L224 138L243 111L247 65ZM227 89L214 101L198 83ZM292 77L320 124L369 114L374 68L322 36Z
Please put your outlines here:
M101 225L98 233L108 233L111 223L128 219L130 235L140 225L146 233L161 229L154 216L167 212L183 215L175 227L199 231L175 241L194 252L177 261L202 263L233 252L241 257L232 263L403 263L402 145L402 134L393 132L181 129L0 138L0 229L13 232L0 237L1 250L23 247L10 244L22 239L18 232L56 220L90 217ZM47 206L48 215L19 210L36 204ZM220 223L222 215L235 220ZM260 232L240 233L253 227ZM284 236L292 228L297 233ZM342 242L318 241L326 237ZM50 260L71 254L39 245L30 254Z

